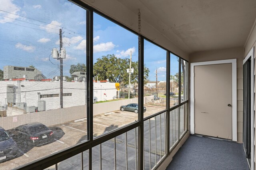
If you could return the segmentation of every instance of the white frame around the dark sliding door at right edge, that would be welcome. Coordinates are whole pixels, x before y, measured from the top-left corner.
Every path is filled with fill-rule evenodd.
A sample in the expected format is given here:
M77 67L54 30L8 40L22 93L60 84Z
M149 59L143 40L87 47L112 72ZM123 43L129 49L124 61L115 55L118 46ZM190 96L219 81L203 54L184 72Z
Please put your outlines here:
M254 47L250 49L249 53L243 60L244 63L251 58L251 170L254 170Z

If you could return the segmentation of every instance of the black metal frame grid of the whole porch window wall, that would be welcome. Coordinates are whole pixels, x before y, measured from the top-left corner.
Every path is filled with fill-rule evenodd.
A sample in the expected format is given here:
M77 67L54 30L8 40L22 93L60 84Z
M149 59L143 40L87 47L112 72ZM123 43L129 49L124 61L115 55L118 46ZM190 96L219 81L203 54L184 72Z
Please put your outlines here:
M130 124L127 124L123 127L120 127L118 129L115 129L113 131L110 131L109 133L100 135L98 137L93 138L93 13L95 12L96 14L99 14L100 16L106 18L107 20L112 21L113 23L116 23L117 25L123 27L124 29L134 33L135 35L138 35L137 31L134 31L133 29L130 29L126 25L118 22L117 20L114 20L113 18L110 18L106 14L96 10L95 8L89 6L88 4L85 4L84 2L80 0L70 0L70 2L80 6L81 8L84 8L86 10L86 78L87 78L87 83L86 83L86 109L87 109L87 134L88 134L88 140L84 141L80 144L74 145L72 147L68 147L64 150L60 150L58 152L55 152L51 155L44 156L43 158L40 158L38 160L34 160L32 162L29 162L27 164L24 164L22 166L19 166L15 169L33 169L33 168L39 168L39 169L44 169L48 168L49 166L52 166L54 164L57 164L58 162L61 162L63 160L66 160L72 156L75 156L79 153L82 153L86 150L89 150L89 169L92 169L92 148L100 145L101 143L104 143L110 139L113 139L114 137L117 137L118 135L121 135L125 132L128 132L136 127L138 127L138 168L142 169L143 168L143 155L144 155L144 121L155 117L157 115L160 115L161 113L166 112L166 154L162 157L162 160L158 162L158 164L154 167L155 169L158 168L158 166L163 162L168 154L172 152L172 149L175 149L175 146L179 144L179 142L176 143L172 147L172 149L169 148L169 130L170 129L170 111L182 106L183 104L186 104L189 102L189 100L186 100L184 102L180 102L180 88L179 88L179 103L175 105L174 107L170 108L170 54L172 53L170 50L158 45L154 41L148 39L144 35L141 35L141 50L139 53L139 69L138 69L138 121L132 122ZM151 115L149 117L144 118L144 39L149 41L150 43L164 49L166 51L166 109L155 113L154 115ZM176 55L175 53L172 53ZM181 57L179 55L176 55L179 57L179 76L180 76L180 60ZM187 61L183 59L184 61ZM188 61L187 61L188 62ZM189 62L188 62L189 63ZM188 66L189 67L189 66ZM180 81L180 79L179 79ZM189 84L188 84L189 85ZM179 83L180 86L180 83ZM189 86L188 86L189 87ZM189 90L189 89L188 89ZM188 94L189 98L189 94ZM188 106L188 104L187 104ZM180 109L179 109L180 110ZM188 114L188 113L187 113ZM186 117L186 123L188 123L188 116ZM179 120L180 121L180 120ZM188 130L184 132L186 134ZM179 137L179 140L184 137L184 134Z

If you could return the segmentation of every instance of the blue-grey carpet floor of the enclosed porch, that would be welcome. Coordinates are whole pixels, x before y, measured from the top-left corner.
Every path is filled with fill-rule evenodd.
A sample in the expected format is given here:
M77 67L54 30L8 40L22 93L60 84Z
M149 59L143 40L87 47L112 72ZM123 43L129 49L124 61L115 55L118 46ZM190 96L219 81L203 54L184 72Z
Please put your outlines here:
M243 145L190 135L166 170L249 170Z

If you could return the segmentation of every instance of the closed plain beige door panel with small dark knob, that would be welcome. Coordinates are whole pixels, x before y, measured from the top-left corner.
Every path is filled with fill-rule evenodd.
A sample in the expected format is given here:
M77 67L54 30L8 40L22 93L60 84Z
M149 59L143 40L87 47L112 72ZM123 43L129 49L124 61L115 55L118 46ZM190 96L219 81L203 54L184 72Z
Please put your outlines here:
M194 131L232 139L232 64L194 66Z

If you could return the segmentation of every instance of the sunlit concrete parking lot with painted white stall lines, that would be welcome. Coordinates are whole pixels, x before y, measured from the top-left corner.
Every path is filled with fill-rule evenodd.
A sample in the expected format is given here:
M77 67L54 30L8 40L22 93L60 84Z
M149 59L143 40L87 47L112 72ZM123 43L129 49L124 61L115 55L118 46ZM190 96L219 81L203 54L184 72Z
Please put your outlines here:
M144 113L144 117L157 113L161 110L164 110L165 107L162 106L152 106L145 105L147 111ZM164 116L161 117L162 123L164 122ZM124 125L127 125L133 121L138 120L138 114L130 111L120 111L116 110L109 113L102 113L95 115L93 119L93 129L94 136L107 133ZM159 123L157 123L159 124ZM147 125L147 123L145 123ZM38 158L42 158L59 150L66 149L67 147L76 145L78 143L84 142L87 139L87 120L79 119L75 121L70 121L60 125L54 125L49 127L54 132L54 140L47 145L41 147L33 147L32 149L27 149L23 146L19 146L19 155L16 158L3 162L0 164L0 169L12 169L16 168L22 164L26 164ZM151 127L152 128L152 127ZM146 127L145 127L146 129ZM148 128L149 129L149 128ZM162 129L164 131L164 129ZM11 131L8 131L11 133ZM134 133L127 140L131 140L129 143L134 147ZM146 137L146 135L145 135ZM123 143L123 137L120 138L120 143ZM117 138L118 139L118 138ZM164 141L164 140L162 140ZM114 143L113 141L107 141L106 143ZM103 144L104 145L104 144ZM111 144L112 145L112 144ZM110 146L111 146L110 145ZM163 143L164 145L164 143ZM112 147L110 147L112 148ZM132 148L132 147L131 147ZM113 148L112 148L113 149ZM133 148L134 149L134 148ZM111 149L110 149L111 150ZM135 153L135 149L134 149ZM84 152L86 154L86 152ZM86 156L84 156L86 157ZM86 158L85 158L86 159ZM135 160L134 160L135 161ZM72 161L71 161L72 162ZM134 162L135 163L135 162ZM63 164L63 163L62 163ZM85 164L86 166L86 164ZM125 167L125 166L124 166ZM63 167L64 168L64 167ZM65 169L65 168L64 168ZM79 168L78 168L79 169Z

